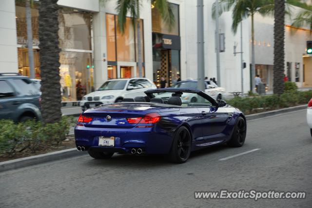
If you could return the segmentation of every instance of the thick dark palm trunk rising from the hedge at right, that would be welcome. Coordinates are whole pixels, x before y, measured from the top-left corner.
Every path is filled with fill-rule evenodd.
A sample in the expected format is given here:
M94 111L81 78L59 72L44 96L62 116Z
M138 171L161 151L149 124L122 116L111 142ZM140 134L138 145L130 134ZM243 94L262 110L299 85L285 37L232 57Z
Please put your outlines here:
M285 0L274 0L274 67L273 93L282 94L285 89Z

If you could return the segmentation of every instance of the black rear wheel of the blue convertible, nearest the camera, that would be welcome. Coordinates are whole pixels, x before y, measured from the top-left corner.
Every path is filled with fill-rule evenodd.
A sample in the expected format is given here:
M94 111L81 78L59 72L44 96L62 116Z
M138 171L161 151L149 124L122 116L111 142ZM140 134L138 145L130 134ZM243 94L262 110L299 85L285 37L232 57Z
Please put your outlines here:
M173 163L185 163L191 154L191 134L189 130L182 126L174 136L174 141L169 153L169 160Z

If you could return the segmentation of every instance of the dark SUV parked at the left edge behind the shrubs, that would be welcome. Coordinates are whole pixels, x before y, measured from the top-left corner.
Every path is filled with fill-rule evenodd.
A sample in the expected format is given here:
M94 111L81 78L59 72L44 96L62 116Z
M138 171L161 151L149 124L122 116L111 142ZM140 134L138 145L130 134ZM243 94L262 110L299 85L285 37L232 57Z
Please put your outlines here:
M40 91L27 76L0 73L0 119L41 120Z

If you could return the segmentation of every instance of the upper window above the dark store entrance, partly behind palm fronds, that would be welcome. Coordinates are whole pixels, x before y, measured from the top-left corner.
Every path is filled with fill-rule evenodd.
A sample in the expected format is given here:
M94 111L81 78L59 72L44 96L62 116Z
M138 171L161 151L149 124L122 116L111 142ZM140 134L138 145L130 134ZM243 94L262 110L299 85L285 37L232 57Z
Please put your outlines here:
M179 5L170 3L171 9L175 17L175 25L169 30L168 25L161 18L161 15L157 11L156 7L152 8L152 31L154 33L179 35Z

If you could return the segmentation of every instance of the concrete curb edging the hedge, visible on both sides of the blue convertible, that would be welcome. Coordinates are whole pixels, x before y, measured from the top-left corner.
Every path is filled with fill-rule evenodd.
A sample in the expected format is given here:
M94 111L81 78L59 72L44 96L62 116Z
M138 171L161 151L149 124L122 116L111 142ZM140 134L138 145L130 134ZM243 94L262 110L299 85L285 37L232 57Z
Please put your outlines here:
M295 107L290 107L290 108L283 108L279 110L263 112L263 113L255 113L251 115L246 115L246 119L250 121L250 120L264 118L264 117L268 117L272 115L299 111L299 110L303 110L306 108L307 108L307 105L300 105L300 106L295 106ZM54 152L49 152L45 154L39 154L35 156L0 162L0 172L23 168L23 167L31 166L31 165L37 165L37 164L45 163L45 162L60 160L64 158L79 156L79 155L83 155L84 153L86 152L80 152L80 151L77 151L76 148L71 148L67 150L54 151Z

